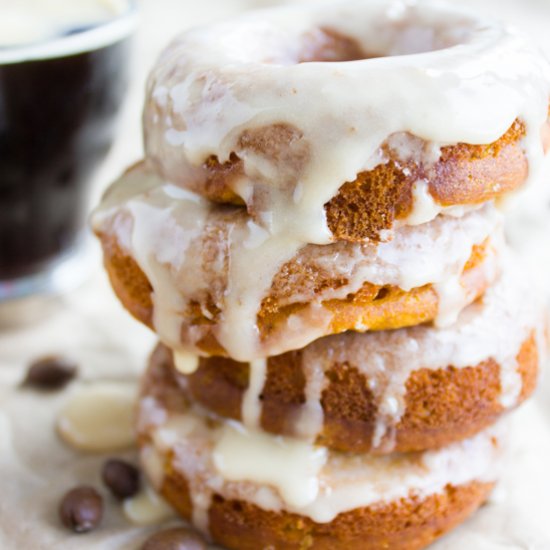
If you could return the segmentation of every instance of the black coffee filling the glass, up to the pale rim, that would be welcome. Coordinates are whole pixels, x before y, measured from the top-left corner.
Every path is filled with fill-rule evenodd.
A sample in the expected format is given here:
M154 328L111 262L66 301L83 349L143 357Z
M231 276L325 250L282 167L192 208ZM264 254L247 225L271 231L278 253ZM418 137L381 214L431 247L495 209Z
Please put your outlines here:
M127 10L28 45L0 36L0 282L78 246L127 85Z

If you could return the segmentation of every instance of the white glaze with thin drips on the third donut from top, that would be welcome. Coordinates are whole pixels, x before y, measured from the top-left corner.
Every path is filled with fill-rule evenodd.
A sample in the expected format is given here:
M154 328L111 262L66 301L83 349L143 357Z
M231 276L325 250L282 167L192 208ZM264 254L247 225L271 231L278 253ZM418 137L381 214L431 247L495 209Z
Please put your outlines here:
M483 300L469 306L452 326L417 326L370 334L345 333L329 336L307 346L301 354L304 373L305 403L289 432L295 437L314 441L322 432L324 417L321 394L328 384L326 372L338 364L357 368L368 380L377 404L377 418L372 447L391 451L395 429L405 412L406 384L419 369L445 369L476 366L488 359L499 364L503 407L513 407L522 389L517 356L522 344L534 332L539 347L539 361L544 350L544 312L537 303L538 294L517 267L506 263L500 280ZM516 260L517 261L517 260ZM265 367L260 373L250 366L254 390L247 392L247 408L261 416L262 403L250 403L259 396L265 381ZM260 412L258 412L260 409ZM244 411L244 406L243 406ZM251 425L245 418L245 425Z

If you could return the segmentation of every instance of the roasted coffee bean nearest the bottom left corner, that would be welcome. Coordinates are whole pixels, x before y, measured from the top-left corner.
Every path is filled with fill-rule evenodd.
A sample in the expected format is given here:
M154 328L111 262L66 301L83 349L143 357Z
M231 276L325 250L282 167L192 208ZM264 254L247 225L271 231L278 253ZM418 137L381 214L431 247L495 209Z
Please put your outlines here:
M76 487L63 497L59 505L59 517L71 531L87 533L101 522L103 499L93 487Z

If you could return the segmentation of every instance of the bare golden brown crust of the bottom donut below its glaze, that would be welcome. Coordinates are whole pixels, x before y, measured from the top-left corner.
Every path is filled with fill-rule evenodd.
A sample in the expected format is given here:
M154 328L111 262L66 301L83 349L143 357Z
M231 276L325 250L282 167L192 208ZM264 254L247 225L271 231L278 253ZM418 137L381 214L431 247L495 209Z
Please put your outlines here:
M418 550L464 521L492 487L477 481L448 485L427 498L358 508L329 523L215 495L208 514L210 534L229 550ZM182 517L191 519L188 482L170 463L161 493Z

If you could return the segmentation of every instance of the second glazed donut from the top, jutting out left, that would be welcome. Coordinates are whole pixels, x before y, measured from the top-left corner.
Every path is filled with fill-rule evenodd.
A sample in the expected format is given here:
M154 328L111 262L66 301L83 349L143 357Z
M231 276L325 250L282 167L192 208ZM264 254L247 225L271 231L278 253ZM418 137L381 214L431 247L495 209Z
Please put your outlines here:
M250 361L346 330L451 322L495 279L500 214L402 227L388 243L297 246L145 165L94 215L122 303L171 348Z

